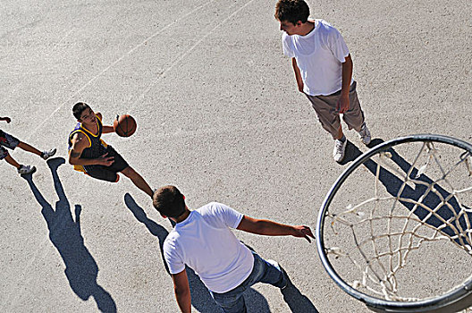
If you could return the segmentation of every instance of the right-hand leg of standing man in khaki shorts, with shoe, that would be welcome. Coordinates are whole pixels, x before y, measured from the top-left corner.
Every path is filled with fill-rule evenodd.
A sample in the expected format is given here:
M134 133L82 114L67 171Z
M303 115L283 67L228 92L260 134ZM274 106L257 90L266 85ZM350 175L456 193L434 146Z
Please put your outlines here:
M372 137L365 122L364 112L362 112L362 108L360 107L356 86L356 81L354 81L350 86L350 108L345 114L342 115L342 119L346 124L348 124L349 129L358 131L358 135L362 143L368 145L372 140Z

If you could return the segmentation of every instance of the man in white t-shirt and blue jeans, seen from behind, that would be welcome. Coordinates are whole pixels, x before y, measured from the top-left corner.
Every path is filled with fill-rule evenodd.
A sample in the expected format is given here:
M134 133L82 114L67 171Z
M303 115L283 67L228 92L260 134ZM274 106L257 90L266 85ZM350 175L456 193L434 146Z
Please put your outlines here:
M173 276L175 298L182 312L191 311L190 286L185 266L205 283L225 312L246 312L243 292L254 283L285 288L287 279L277 262L260 258L230 228L272 236L315 238L308 226L291 226L244 216L221 203L190 211L174 186L156 190L153 205L176 224L164 241L164 258Z

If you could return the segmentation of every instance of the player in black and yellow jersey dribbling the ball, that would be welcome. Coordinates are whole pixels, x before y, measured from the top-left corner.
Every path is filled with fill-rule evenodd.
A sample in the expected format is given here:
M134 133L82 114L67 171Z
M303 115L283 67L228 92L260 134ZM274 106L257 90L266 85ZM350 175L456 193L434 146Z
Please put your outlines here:
M79 122L69 135L69 163L74 169L106 182L118 182L121 172L152 197L153 191L141 175L101 139L102 133L114 132L113 126L102 123L102 114L95 114L83 102L75 104L72 113Z

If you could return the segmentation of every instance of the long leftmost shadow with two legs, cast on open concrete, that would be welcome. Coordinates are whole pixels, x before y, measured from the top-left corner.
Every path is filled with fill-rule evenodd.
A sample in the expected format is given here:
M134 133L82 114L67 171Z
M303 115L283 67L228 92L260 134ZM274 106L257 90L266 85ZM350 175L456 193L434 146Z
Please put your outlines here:
M63 165L62 157L55 157L47 161L47 165L53 174L55 192L59 200L55 202L55 209L42 196L38 187L33 182L31 175L23 178L30 185L34 197L42 207L49 239L63 258L64 273L71 285L72 291L81 300L89 300L90 297L97 302L97 308L101 312L116 312L116 305L111 295L97 283L98 266L95 259L85 247L80 233L80 205L74 206L75 221L72 218L71 205L65 197L63 185L57 175L57 168Z

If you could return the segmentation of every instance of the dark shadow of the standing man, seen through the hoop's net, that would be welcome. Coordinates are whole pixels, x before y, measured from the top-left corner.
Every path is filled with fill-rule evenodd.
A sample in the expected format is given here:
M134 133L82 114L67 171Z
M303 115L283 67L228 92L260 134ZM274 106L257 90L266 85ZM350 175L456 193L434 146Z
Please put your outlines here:
M381 139L372 140L370 147L375 147L384 142ZM362 153L360 150L352 145L354 148L350 148L350 158L357 158ZM411 164L403 157L401 157L394 148L385 149L386 152L390 152L392 154L391 160L396 165L398 165L405 174L409 173L411 168ZM368 159L364 166L367 167L368 171L372 174L376 174L377 172L377 163L372 159ZM451 196L451 192L445 190L441 185L435 183L434 190L435 192L428 189L428 185L432 184L434 181L429 178L426 174L421 173L417 177L418 170L417 168L413 168L409 175L410 179L414 179L415 181L409 181L409 184L405 184L402 179L400 179L396 174L391 173L390 171L386 170L383 166L380 166L379 172L379 181L382 182L387 192L396 197L400 189L400 198L401 199L409 199L409 201L402 201L399 202L404 206L407 207L409 210L414 210L414 214L426 224L430 224L434 226L436 229L442 227L443 220L450 221L451 224L454 224L456 228L461 229L468 229L468 222L467 220L471 220L472 216L469 212L465 214L459 215L461 211L458 199L456 197ZM420 183L418 183L420 182ZM410 187L413 185L413 187ZM443 205L443 199L448 199ZM413 200L413 202L410 202ZM428 207L426 209L422 206L417 206L415 203L421 203L423 206ZM430 214L430 210L435 209L434 214ZM459 216L459 217L458 217ZM441 219L440 219L441 218ZM457 235L457 233L453 230L450 225L447 225L441 229L442 233L446 233L449 236ZM467 242L467 238L463 238L464 235L467 233L461 233L459 238L455 239L457 243L460 245L464 245L464 242Z

